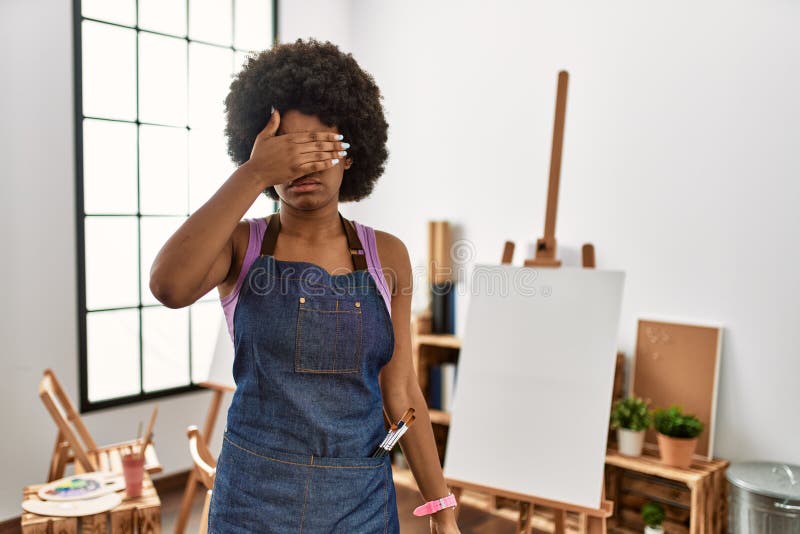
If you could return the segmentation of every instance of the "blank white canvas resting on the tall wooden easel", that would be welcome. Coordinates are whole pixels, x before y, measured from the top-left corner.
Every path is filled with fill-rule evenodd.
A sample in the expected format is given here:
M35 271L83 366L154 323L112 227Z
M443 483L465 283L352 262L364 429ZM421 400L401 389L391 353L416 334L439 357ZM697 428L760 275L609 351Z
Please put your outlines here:
M624 273L472 278L445 475L599 508Z

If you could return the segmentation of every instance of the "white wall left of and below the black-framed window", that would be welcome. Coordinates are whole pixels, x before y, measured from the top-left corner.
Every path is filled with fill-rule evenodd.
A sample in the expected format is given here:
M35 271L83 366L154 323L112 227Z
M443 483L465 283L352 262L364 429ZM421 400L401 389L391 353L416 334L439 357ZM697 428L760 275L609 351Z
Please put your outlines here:
M37 396L46 367L78 397L72 2L0 2L0 521L20 514L24 485L42 482L55 426ZM165 474L189 468L186 427L210 397L158 401L156 448ZM153 403L94 412L99 443L134 437ZM212 447L220 446L221 410Z

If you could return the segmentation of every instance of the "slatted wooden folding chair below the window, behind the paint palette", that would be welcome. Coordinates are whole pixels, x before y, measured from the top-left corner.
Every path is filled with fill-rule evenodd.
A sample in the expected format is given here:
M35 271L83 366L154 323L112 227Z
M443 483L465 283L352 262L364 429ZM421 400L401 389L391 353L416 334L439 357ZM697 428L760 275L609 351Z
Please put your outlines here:
M44 377L39 382L39 397L58 427L47 474L48 482L62 478L67 464L72 462L76 473L122 473L122 454L131 450L138 440L98 447L51 369L45 369ZM148 473L160 473L163 470L152 444L147 446L144 456L144 468Z

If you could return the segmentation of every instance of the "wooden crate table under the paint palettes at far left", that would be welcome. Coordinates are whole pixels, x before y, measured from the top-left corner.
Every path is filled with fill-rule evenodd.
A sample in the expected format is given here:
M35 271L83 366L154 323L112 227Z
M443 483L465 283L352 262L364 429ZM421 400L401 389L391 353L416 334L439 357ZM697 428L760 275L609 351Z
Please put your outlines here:
M22 490L23 500L39 500L38 491L44 484L27 486ZM125 490L119 492L122 503L116 508L101 514L83 517L48 517L43 515L22 513L23 534L78 534L110 532L125 534L160 534L161 533L161 499L147 473L142 482L142 495L136 498L125 496Z

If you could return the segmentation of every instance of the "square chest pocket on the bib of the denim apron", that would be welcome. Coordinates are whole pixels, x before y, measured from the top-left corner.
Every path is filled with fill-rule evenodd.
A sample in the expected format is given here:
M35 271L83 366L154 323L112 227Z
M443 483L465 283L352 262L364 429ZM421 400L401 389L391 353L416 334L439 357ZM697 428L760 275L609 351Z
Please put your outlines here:
M361 335L361 301L357 298L300 297L295 372L359 372Z

